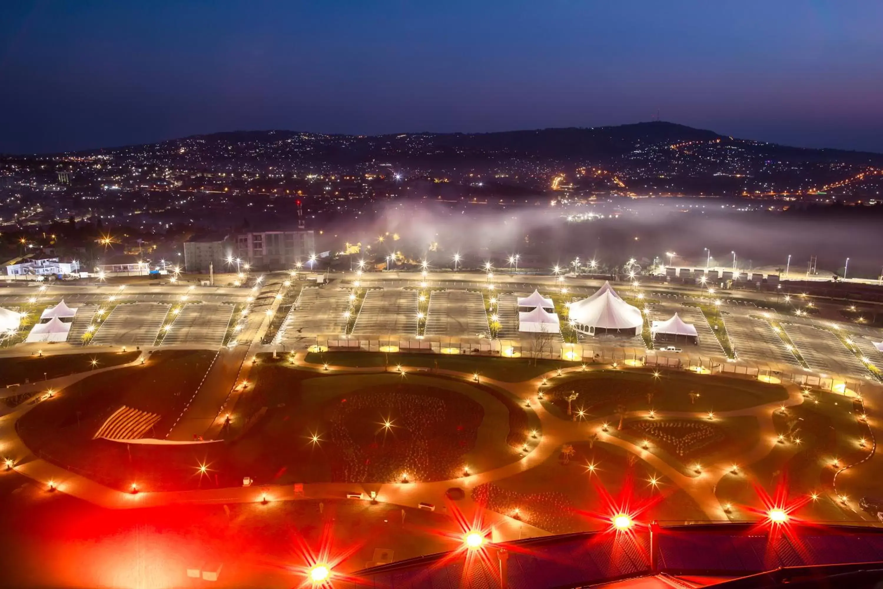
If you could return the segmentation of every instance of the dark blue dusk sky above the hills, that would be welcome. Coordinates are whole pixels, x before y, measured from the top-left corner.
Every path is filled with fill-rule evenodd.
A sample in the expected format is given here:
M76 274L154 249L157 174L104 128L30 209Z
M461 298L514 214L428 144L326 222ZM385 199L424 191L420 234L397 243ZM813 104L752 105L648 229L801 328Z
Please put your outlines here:
M883 152L883 2L0 4L0 152L664 120Z

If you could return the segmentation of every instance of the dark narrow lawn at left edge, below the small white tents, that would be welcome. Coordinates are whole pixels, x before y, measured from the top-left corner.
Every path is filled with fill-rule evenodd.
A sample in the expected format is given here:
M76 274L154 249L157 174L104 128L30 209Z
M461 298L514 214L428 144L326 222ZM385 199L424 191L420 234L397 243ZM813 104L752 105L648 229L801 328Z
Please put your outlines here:
M102 351L90 354L57 354L42 357L34 354L0 358L0 387L8 384L24 384L26 380L42 381L43 378L86 372L92 370L92 360L98 361L96 368L127 364L137 359L140 353L140 351Z

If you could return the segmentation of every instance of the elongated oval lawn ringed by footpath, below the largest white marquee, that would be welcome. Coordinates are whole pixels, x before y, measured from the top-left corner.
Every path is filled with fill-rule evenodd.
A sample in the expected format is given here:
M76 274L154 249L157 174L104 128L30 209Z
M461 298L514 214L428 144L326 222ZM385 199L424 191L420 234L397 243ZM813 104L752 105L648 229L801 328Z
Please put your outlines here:
M565 397L571 391L579 394L573 411L583 410L587 418L612 415L619 404L628 411L724 412L788 398L784 387L776 384L674 371L661 371L657 378L652 371L630 369L564 374L550 379L544 391L547 407L555 407L553 412L562 419L568 419ZM698 395L695 403L691 393Z

